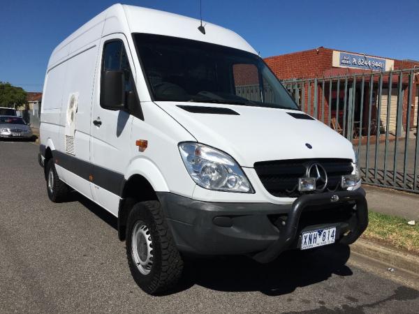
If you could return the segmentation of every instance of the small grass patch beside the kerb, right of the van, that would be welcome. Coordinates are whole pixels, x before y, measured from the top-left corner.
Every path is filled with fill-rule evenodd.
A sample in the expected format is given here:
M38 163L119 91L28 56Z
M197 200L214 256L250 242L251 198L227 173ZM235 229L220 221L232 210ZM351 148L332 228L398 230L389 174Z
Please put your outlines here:
M419 224L408 225L404 218L369 211L369 225L362 237L419 255Z

